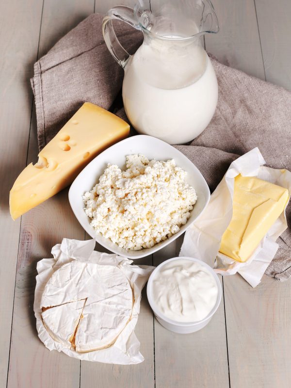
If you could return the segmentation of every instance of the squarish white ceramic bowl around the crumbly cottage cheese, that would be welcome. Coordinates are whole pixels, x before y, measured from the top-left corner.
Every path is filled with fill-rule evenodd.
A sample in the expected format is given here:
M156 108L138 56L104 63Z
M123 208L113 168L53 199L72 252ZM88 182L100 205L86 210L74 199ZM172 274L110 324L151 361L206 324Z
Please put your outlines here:
M130 249L119 248L110 239L104 238L100 233L96 233L94 228L90 226L90 219L85 214L82 195L86 191L92 190L97 183L99 177L103 174L108 163L117 164L120 168L125 168L126 155L144 154L148 159L168 160L175 159L176 164L183 170L187 171L187 182L194 187L198 196L194 209L191 211L191 216L187 223L181 226L178 233L174 234L169 239L162 241L152 248L143 248L140 251L132 251ZM169 244L177 237L185 232L185 230L197 219L197 217L205 209L210 200L210 190L197 167L184 156L178 149L170 146L152 136L137 135L129 137L121 142L107 148L99 154L92 162L90 162L78 175L72 183L69 190L69 202L71 208L86 232L96 239L96 241L106 249L129 259L138 259L153 252L158 251L165 245Z

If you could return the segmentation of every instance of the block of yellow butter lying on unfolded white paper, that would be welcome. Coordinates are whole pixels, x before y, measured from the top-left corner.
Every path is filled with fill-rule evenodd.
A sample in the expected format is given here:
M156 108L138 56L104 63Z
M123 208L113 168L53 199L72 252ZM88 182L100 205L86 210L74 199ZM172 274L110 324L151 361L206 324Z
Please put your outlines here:
M288 190L254 177L234 180L233 214L219 252L244 262L284 210Z

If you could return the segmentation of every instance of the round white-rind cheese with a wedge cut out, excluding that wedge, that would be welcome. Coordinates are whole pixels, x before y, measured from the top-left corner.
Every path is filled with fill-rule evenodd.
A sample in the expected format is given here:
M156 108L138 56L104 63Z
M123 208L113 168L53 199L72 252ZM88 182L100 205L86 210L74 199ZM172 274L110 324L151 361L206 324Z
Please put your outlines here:
M132 290L116 266L73 260L49 279L41 307L86 299L77 327L77 352L108 347L128 323L132 313ZM47 310L49 311L49 310Z

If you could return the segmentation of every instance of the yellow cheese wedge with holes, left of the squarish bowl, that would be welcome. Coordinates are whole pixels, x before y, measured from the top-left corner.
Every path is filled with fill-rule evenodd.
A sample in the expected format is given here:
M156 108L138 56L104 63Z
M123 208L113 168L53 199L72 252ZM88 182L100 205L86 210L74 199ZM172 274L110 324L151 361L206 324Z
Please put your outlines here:
M97 105L85 102L29 164L10 191L10 214L16 219L64 189L105 148L126 138L129 125Z

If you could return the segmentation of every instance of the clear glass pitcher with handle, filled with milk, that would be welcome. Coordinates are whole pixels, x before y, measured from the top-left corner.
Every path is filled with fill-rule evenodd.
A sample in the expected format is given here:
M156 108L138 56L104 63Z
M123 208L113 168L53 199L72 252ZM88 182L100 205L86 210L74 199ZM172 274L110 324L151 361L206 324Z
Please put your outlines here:
M113 19L144 33L134 55L118 42ZM200 38L218 30L210 0L139 0L134 9L117 6L108 11L104 39L124 68L124 108L139 133L182 144L208 126L218 87Z

